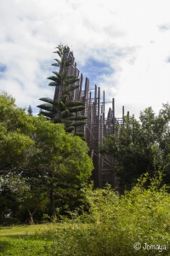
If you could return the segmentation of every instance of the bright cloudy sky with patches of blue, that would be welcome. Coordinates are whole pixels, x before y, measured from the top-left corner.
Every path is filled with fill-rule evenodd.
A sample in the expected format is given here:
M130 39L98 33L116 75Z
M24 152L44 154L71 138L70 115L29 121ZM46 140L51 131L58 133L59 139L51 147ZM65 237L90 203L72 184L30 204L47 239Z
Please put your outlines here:
M116 117L170 102L169 0L0 0L0 93L33 113L54 97L47 78L59 44L77 68L115 98ZM109 103L107 104L109 108Z

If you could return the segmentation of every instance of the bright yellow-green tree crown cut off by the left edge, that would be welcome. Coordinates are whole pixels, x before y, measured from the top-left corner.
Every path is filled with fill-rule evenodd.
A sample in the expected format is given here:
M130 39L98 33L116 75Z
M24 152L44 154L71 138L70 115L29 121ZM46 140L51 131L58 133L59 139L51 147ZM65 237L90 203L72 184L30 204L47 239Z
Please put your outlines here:
M0 95L0 174L26 168L35 130L31 116L15 105L14 98Z

